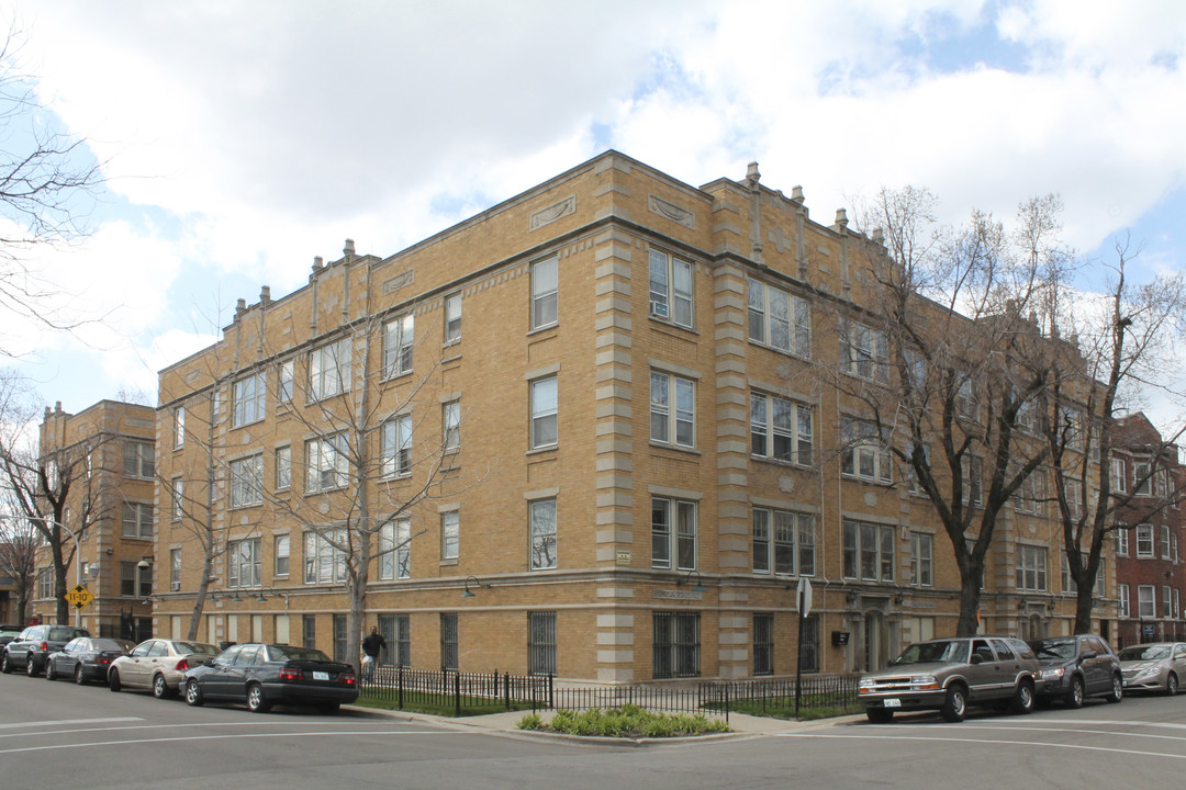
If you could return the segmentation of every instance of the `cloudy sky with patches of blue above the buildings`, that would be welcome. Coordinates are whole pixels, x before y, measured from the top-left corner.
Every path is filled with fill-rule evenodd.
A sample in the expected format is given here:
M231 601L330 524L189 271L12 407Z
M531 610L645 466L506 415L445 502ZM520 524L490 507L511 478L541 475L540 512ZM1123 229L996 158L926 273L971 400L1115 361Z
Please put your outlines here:
M46 403L141 391L313 256L391 255L616 148L811 216L926 186L956 221L1057 192L1065 237L1186 265L1179 0L0 0L107 184L36 261L75 335L0 316ZM1102 270L1102 265L1101 265Z

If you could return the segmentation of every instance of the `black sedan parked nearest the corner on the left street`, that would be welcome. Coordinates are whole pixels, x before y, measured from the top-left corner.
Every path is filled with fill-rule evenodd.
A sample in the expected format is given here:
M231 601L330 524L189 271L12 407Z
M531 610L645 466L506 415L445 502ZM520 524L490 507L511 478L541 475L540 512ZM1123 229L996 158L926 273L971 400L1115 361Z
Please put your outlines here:
M325 713L358 699L355 668L312 648L236 644L185 672L185 701L243 700L254 712L275 704L315 705Z

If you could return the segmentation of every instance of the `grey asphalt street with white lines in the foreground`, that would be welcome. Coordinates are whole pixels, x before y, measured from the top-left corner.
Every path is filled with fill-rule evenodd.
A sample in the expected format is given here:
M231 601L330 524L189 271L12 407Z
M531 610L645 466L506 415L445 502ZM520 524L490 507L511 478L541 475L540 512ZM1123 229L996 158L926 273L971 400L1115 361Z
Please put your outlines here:
M732 717L735 734L643 744L346 708L253 714L0 675L5 788L1177 788L1186 698L871 725Z

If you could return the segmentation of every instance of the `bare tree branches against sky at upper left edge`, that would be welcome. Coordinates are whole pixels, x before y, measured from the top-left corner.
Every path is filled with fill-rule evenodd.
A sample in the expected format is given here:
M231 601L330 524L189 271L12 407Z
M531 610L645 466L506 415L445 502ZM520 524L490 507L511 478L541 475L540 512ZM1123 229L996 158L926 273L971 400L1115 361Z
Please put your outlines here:
M64 289L28 258L37 246L71 243L89 232L102 163L85 141L46 123L52 114L19 62L23 39L12 24L0 43L0 310L70 330L87 320L55 304ZM0 342L0 354L12 353Z

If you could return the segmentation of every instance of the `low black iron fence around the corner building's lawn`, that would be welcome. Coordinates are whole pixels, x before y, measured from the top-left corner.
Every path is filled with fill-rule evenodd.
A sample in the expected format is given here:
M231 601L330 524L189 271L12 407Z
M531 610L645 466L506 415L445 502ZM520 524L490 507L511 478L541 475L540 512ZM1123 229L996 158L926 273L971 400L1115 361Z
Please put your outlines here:
M613 708L637 705L663 713L703 713L728 720L729 711L786 715L792 709L856 708L859 675L811 675L802 681L796 706L795 679L704 681L681 685L557 686L551 675L432 672L377 667L363 677L363 696L406 706L451 709L454 715L498 711Z

